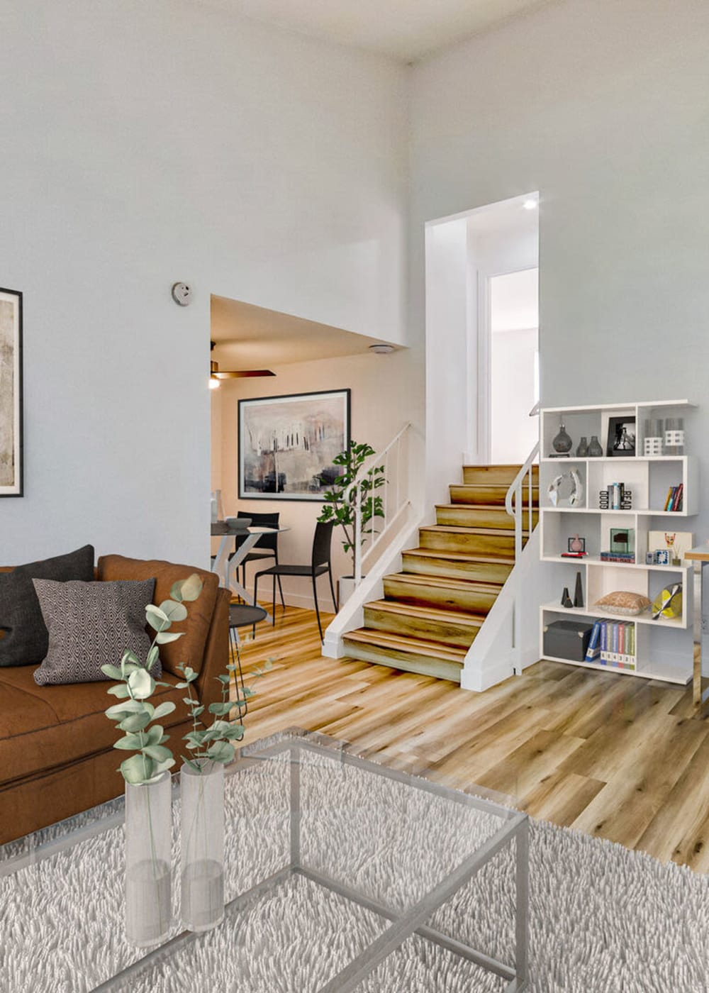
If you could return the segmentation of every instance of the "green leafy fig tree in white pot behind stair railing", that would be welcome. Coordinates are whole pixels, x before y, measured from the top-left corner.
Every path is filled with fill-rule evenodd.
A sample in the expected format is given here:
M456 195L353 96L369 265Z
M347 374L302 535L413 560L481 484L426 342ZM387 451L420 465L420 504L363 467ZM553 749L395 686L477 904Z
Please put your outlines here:
M360 537L362 542L365 535L375 532L375 519L384 516L382 497L374 493L386 482L384 467L374 466L362 472L364 463L374 454L371 445L357 444L351 439L348 448L333 459L333 464L342 467L342 472L333 480L330 489L326 491L324 495L325 505L318 517L318 520L332 521L342 527L345 535L343 548L352 558L352 575L340 577L339 607L346 604L355 589L355 510L357 502L361 510ZM358 489L351 489L353 484L357 482L359 482Z

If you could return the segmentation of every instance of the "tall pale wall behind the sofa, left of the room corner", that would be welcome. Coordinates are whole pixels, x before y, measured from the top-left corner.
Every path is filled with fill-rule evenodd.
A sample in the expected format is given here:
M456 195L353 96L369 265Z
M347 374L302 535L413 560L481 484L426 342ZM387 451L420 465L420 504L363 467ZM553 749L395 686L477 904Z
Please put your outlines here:
M210 293L405 339L405 71L188 0L2 2L0 36L27 495L0 562L204 563Z

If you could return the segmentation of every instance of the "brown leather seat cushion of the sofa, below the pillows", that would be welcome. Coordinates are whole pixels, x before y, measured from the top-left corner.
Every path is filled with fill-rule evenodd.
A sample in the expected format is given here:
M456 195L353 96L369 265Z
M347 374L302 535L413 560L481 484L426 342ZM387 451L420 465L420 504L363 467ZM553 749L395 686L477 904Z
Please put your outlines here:
M104 711L116 702L106 690L110 681L38 686L35 666L0 670L0 785L66 766L86 756L111 749L120 735ZM177 677L163 673L168 687L158 686L151 696L156 706L172 700L176 710L160 722L170 727L185 721L185 691L177 689ZM167 743L180 756L180 737ZM125 758L115 753L115 768Z

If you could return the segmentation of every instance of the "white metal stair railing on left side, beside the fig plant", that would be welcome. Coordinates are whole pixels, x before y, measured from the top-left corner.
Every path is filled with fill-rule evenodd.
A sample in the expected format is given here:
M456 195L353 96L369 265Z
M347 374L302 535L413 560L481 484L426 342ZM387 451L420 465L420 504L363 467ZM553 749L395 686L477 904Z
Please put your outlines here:
M411 424L406 423L389 444L380 452L362 463L358 479L344 495L344 502L355 507L355 586L362 577L362 566L370 560L377 545L386 542L394 526L410 505L409 496L409 437ZM383 473L377 477L383 480L380 486L365 490L377 477L373 471L382 467ZM373 515L374 501L381 498L381 513ZM364 510L368 508L369 519L363 524Z

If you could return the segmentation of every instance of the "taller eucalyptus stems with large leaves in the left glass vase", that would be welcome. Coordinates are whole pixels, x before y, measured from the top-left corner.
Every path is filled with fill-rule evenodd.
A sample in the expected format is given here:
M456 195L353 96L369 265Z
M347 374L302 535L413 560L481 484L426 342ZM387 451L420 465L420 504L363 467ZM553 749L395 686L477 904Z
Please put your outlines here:
M169 735L163 731L162 725L153 724L161 717L167 717L175 710L175 704L166 700L154 707L149 697L155 692L156 686L167 686L174 689L171 683L154 679L150 669L158 659L159 645L167 644L182 638L182 633L171 632L174 621L184 621L187 617L185 603L189 603L202 593L202 580L197 574L188 579L174 583L170 590L170 599L156 607L148 604L145 617L155 632L145 664L136 653L126 648L120 660L120 666L102 665L101 671L111 679L118 679L115 686L107 691L117 696L122 702L116 703L106 710L106 716L116 722L117 728L124 732L113 748L135 755L124 759L119 772L126 782L142 783L157 779L166 770L175 765L175 759L165 742Z

